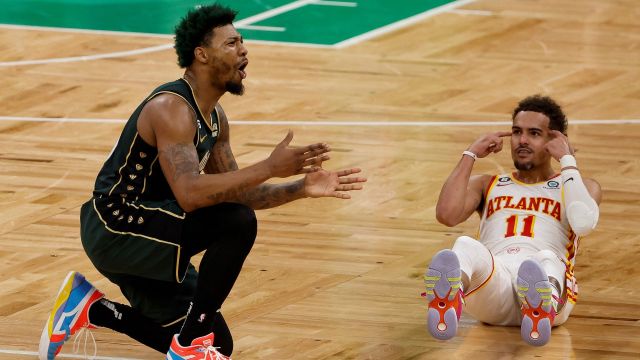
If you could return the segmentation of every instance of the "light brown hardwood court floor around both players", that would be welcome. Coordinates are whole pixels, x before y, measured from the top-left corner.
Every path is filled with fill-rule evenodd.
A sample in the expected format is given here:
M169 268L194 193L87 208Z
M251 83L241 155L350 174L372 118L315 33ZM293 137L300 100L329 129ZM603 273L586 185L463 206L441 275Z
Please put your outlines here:
M479 0L424 11L340 46L248 41L247 92L222 99L239 165L267 157L292 129L294 144L332 145L326 167L361 167L368 183L349 201L258 211L256 245L223 306L234 359L637 359L637 2ZM0 49L0 359L34 359L69 270L125 301L82 250L79 207L124 119L182 71L168 36L0 25ZM603 189L598 228L578 252L577 306L542 348L518 328L464 315L458 337L436 341L422 274L478 225L437 223L440 187L462 150L509 129L517 101L535 93L564 106L582 173ZM474 171L511 167L502 152ZM163 358L110 330L94 335L97 358ZM72 356L73 341L63 353Z

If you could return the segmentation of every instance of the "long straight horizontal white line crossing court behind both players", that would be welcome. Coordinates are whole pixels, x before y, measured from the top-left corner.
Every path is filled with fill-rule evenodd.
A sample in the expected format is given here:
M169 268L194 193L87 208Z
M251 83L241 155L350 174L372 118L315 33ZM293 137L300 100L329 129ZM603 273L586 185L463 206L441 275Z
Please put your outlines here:
M90 119L90 118L46 118L26 116L0 116L0 121L24 122L57 122L57 123L94 123L94 124L122 124L125 119ZM640 124L640 119L611 119L611 120L569 120L569 125L610 125L610 124ZM378 127L434 127L434 126L496 126L511 125L511 121L312 121L312 120L235 120L231 125L299 125L299 126L378 126Z

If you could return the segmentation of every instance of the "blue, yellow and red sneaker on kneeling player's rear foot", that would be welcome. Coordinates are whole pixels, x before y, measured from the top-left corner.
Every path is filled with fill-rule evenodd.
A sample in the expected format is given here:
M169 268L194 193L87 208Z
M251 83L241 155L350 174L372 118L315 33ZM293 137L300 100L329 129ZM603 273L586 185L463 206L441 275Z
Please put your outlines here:
M40 360L53 360L62 345L78 330L95 328L89 323L89 307L102 297L104 294L85 280L82 274L72 271L67 275L42 330Z

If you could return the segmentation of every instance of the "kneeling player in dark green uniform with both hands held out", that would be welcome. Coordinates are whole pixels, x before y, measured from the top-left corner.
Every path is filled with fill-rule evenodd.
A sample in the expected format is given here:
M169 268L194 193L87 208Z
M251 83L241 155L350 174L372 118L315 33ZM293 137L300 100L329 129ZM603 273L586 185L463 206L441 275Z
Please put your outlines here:
M220 307L256 237L254 209L305 197L348 199L366 179L320 167L327 144L290 147L290 131L263 161L238 169L218 104L242 95L247 49L236 13L211 5L176 27L184 77L138 106L81 209L82 244L130 306L107 300L71 272L42 332L40 358L53 359L83 327L124 333L168 359L224 358L233 342ZM305 174L288 183L270 178ZM190 258L204 251L199 271Z

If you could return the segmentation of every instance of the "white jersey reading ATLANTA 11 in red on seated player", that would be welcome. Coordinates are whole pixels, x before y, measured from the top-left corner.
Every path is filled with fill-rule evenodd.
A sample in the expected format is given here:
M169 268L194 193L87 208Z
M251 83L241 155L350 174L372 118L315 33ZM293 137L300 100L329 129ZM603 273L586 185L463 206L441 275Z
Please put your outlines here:
M567 297L575 302L573 276L578 237L565 214L560 175L525 184L512 174L494 176L486 192L479 241L492 254L551 250L567 265ZM558 279L561 281L561 279Z

